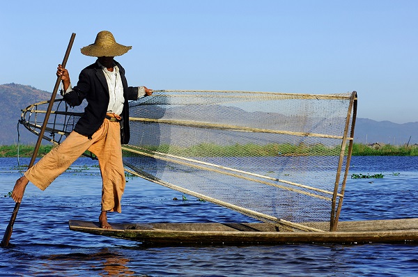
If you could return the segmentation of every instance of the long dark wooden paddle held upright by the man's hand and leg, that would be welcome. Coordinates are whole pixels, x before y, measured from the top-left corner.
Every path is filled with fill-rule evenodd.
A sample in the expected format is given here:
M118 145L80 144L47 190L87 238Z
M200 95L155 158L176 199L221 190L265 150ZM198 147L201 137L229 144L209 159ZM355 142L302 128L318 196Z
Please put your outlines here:
M64 59L63 59L63 63L62 63L63 68L65 68L65 65L67 64L68 56L70 56L70 51L71 51L71 47L72 47L72 43L74 42L74 39L75 39L75 33L72 33L71 38L70 38L70 42L68 43L67 51L65 52L65 56L64 56ZM47 113L45 113L45 118L44 118L44 121L42 123L42 127L40 129L40 132L38 134L38 141L36 141L35 149L33 150L32 159L31 159L31 162L29 163L28 168L31 168L33 166L33 164L35 164L35 159L36 159L36 156L38 155L38 150L40 148L40 143L42 142L42 137L45 133L45 129L47 128L47 122L48 122L48 119L49 119L49 115L51 114L52 106L54 105L56 93L58 91L60 82L61 82L61 76L56 78L54 91L52 92L51 100L49 100ZM13 224L15 224L17 212L19 212L19 207L20 207L20 203L16 203L15 209L13 209L12 216L11 216L10 221L8 223L8 226L6 228L6 232L4 232L3 240L1 241L1 247L7 247L8 244L9 244L10 237L12 237Z

